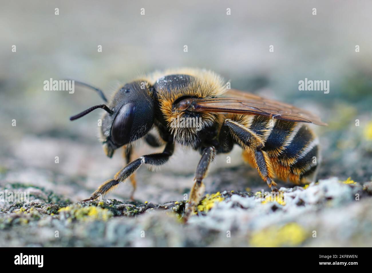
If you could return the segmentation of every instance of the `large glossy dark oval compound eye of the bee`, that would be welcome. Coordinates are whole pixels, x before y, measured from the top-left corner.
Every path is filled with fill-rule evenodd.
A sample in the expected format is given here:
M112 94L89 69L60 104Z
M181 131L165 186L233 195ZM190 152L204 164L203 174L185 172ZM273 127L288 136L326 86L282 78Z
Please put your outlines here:
M133 102L124 104L116 115L111 128L111 139L122 146L129 143L131 128L133 125L135 105Z

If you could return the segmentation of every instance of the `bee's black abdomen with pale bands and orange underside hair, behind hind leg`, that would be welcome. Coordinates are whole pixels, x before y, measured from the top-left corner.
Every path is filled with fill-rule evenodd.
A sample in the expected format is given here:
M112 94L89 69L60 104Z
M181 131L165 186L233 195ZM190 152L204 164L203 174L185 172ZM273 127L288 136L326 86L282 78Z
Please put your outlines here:
M318 165L318 139L305 124L277 121L263 151L276 175L296 184L311 182Z

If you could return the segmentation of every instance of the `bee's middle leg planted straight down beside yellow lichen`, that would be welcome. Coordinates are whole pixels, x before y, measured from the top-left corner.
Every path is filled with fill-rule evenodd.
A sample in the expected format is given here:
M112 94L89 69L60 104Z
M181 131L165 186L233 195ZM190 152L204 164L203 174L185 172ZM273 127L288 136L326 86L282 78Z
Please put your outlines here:
M190 192L189 202L186 204L184 219L187 219L194 213L197 205L201 201L205 185L203 184L203 178L206 176L209 164L213 161L216 154L216 149L214 147L206 147L203 150L202 158L199 161L198 167L195 172L195 183Z

